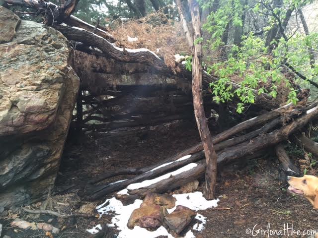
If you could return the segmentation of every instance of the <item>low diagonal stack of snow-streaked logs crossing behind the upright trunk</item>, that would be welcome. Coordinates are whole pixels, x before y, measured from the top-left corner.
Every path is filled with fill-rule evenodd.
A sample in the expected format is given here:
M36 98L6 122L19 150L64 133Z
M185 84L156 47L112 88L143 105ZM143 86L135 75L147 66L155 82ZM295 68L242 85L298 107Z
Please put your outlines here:
M213 137L218 155L218 165L240 158L253 157L259 151L275 146L278 157L290 170L296 169L284 149L279 145L308 122L317 117L317 104L302 106L286 105L221 132ZM239 135L241 132L251 130ZM88 199L95 200L115 191L119 196L144 196L148 192L165 192L193 179L204 176L205 160L202 145L197 144L181 153L151 167L125 169L117 174L104 174L95 178L85 188ZM282 157L284 157L282 159ZM134 174L132 179L110 184L93 185L114 175ZM152 180L153 179L153 180ZM143 183L143 181L147 181ZM125 189L126 188L126 189Z

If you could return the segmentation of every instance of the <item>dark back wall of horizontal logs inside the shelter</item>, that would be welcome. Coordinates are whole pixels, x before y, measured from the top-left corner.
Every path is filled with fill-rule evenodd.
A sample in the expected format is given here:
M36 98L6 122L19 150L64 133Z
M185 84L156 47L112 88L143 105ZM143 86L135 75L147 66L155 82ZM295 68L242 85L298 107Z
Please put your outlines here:
M210 97L211 98L211 97ZM215 107L206 97L206 107ZM211 109L210 109L211 110ZM157 125L193 119L192 98L184 95L141 97L79 96L76 127L85 131L109 131L121 127Z

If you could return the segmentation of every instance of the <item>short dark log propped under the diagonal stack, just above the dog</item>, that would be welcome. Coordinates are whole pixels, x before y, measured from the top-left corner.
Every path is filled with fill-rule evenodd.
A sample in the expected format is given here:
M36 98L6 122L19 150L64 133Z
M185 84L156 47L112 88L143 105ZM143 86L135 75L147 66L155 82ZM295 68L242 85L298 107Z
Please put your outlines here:
M282 163L282 169L287 175L300 176L299 169L291 161L284 146L281 143L275 146L275 153L278 160Z

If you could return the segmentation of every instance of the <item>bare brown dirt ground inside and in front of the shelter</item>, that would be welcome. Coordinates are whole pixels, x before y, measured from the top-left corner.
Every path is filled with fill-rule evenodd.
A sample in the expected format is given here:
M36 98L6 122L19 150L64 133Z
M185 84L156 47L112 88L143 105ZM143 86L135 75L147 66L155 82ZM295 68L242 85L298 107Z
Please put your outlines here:
M71 213L80 208L81 212L96 214L94 207L106 197L92 203L79 197L78 193L88 179L122 167L152 165L198 141L197 131L190 122L162 125L157 130L124 137L71 135L65 147L55 188L46 202L47 209ZM305 198L287 191L287 186L279 180L281 176L278 168L275 156L270 153L263 158L247 162L240 160L236 164L219 168L216 191L220 196L219 206L200 211L207 217L207 223L197 238L301 238L308 236L297 235L297 231L303 233L318 229L318 211L313 210ZM104 182L125 178L127 176L120 176ZM202 190L202 181L199 190ZM30 208L39 209L43 204L33 204ZM54 234L54 238L115 238L118 234L116 230L106 227L110 216L102 219L63 219L23 211L6 211L4 215L0 217L2 235L11 238L46 238L43 231L11 228L9 223L16 217L29 222L47 222L63 230ZM85 232L86 228L97 224L105 225L104 233L94 236Z

